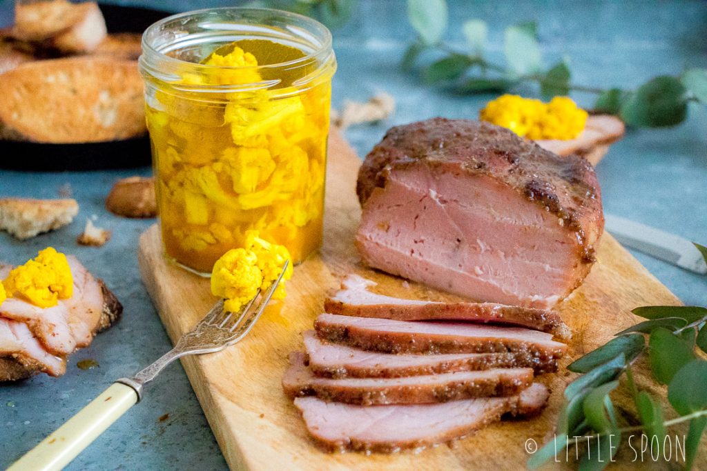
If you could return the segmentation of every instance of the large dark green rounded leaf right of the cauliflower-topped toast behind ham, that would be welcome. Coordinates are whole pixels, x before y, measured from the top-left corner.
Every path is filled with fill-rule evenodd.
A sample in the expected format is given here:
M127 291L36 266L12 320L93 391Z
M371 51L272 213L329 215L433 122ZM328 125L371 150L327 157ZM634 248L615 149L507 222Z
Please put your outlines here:
M677 78L670 76L656 77L641 85L621 105L621 118L633 126L674 126L686 116L686 90Z

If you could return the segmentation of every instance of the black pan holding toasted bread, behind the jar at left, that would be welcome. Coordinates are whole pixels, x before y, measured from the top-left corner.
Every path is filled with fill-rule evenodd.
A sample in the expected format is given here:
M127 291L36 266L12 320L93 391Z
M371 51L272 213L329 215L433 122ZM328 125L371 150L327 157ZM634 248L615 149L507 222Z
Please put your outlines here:
M100 5L108 32L144 32L172 13L117 5ZM0 141L0 168L62 171L96 170L150 165L147 136L85 144L44 144Z

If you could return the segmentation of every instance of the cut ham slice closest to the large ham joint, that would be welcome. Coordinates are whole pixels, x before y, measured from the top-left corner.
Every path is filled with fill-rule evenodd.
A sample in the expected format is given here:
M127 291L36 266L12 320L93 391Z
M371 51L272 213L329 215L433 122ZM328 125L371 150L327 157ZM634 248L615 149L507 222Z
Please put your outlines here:
M559 314L544 309L506 306L496 303L432 302L399 299L370 292L376 283L359 275L347 275L341 290L325 299L324 310L344 316L376 317L398 321L471 321L510 324L542 330L561 338L571 337Z

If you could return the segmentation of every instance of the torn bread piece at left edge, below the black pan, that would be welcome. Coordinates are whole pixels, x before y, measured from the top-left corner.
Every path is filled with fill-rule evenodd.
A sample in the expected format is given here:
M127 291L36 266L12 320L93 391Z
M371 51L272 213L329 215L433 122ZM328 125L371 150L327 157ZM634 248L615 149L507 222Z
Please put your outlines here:
M29 239L69 224L77 214L78 203L73 199L1 198L0 230L18 239Z

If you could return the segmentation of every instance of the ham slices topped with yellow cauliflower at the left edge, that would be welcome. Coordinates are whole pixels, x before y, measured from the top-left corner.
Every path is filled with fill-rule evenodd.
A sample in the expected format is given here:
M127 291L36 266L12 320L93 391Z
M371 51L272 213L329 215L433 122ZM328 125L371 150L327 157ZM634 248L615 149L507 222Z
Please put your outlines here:
M122 314L103 280L51 248L20 267L0 264L0 280L0 381L62 376L67 357Z

